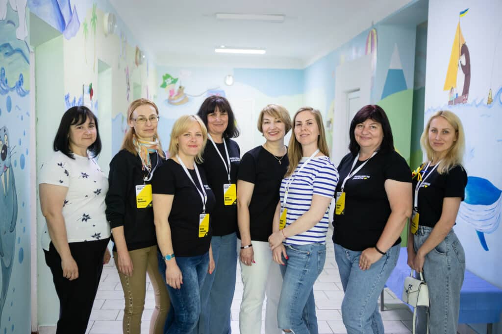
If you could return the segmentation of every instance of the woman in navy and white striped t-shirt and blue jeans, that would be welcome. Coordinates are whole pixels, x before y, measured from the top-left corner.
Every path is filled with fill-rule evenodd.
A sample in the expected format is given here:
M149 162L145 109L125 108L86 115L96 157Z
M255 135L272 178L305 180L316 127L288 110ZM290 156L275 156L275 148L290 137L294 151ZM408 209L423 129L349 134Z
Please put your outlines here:
M277 319L286 332L317 334L313 286L326 260L328 212L338 172L329 159L319 110L301 108L293 126L290 165L269 237L283 275Z

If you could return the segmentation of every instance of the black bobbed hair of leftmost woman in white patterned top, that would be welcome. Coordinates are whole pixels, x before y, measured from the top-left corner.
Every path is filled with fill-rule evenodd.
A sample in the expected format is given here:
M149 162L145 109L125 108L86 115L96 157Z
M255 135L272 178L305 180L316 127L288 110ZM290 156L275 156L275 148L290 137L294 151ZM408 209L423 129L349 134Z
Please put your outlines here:
M96 140L87 147L87 150L92 153L92 157L96 157L101 152L101 138L99 137L99 128L97 124L97 117L92 113L92 111L83 106L71 107L66 110L61 117L61 122L59 123L58 132L56 132L56 137L54 138L53 148L55 151L61 151L64 155L74 159L73 152L70 150L70 126L71 125L81 125L87 121L87 118L94 120L96 125Z

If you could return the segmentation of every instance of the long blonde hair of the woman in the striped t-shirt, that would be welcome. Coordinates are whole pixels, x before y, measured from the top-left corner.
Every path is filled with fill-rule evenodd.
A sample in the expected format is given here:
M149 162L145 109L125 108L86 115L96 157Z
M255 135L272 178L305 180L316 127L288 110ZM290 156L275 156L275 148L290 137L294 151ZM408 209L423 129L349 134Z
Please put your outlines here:
M293 124L295 123L296 116L298 116L298 114L303 111L308 111L312 115L314 115L317 127L319 128L319 137L317 138L317 148L319 148L319 151L321 151L324 155L329 157L329 148L328 148L328 143L326 141L326 132L324 131L324 123L322 122L321 112L312 107L300 108L293 117ZM289 166L288 170L286 171L286 175L284 176L285 178L288 178L293 174L298 164L300 163L302 156L303 156L302 144L300 144L300 142L296 139L295 134L293 133L291 135L291 138L289 139L289 147L288 147Z

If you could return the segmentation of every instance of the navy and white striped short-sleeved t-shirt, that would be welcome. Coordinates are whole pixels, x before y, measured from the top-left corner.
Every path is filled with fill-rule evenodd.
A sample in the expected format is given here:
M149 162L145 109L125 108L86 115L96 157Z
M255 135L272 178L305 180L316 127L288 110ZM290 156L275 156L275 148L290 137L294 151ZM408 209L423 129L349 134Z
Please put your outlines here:
M286 226L294 224L304 213L310 209L312 196L319 195L333 198L335 188L338 184L338 171L327 156L313 157L307 165L298 173L301 166L307 160L302 157L292 176L293 182L289 186L288 199L286 203ZM281 196L281 206L284 205L284 193L289 178L283 179L279 190ZM302 234L294 235L284 240L286 245L306 245L312 243L326 243L326 233L329 227L329 206L323 218L310 230Z

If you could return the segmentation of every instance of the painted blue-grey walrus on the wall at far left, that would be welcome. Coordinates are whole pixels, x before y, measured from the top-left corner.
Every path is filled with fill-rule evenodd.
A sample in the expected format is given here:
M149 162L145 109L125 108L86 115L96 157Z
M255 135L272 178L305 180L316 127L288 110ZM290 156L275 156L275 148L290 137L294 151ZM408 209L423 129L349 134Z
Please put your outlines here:
M0 127L0 268L2 269L2 295L0 296L0 317L9 290L16 241L18 219L18 197L11 157L14 147L9 146L9 131Z

